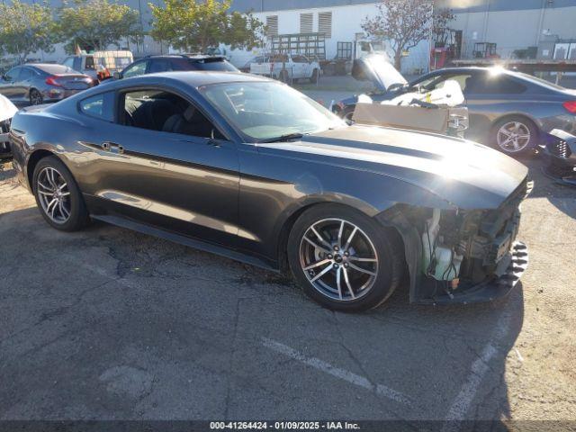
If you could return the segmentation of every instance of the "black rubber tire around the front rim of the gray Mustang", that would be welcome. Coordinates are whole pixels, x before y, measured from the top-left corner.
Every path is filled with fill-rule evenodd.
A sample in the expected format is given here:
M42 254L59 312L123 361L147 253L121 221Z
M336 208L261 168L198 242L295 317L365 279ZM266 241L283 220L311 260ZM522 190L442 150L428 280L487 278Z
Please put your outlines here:
M347 300L338 300L338 298L334 298L334 296L330 297L325 293L321 293L320 290L312 284L312 281L309 280L311 275L308 272L310 272L310 270L308 270L308 272L304 270L305 267L302 262L303 256L301 252L303 250L302 245L307 245L307 242L304 242L303 237L307 232L311 232L309 229L312 225L326 223L323 221L333 219L346 220L351 226L355 225L358 228L357 232L360 232L362 236L366 236L366 238L370 240L372 243L371 246L374 246L376 252L375 257L378 258L374 275L369 276L374 278L372 279L374 282L367 289L366 293L359 295L358 293L361 292L356 291L358 298L352 296ZM340 250L339 254L344 254L344 250ZM333 311L366 311L380 306L392 295L396 287L400 284L404 268L403 247L401 247L401 240L398 234L393 231L393 229L383 227L376 220L365 216L365 214L341 204L318 204L304 211L300 218L296 220L290 232L287 256L293 276L298 284L302 286L304 293L314 301L319 302L320 305ZM317 259L322 260L325 257L326 256L319 257ZM336 259L336 256L334 256L334 258ZM359 263L356 262L356 264ZM343 267L345 264L341 264L340 266ZM331 269L326 275L330 278L336 278L336 275L330 275L332 272L336 273L340 270L345 272L343 268L337 270L335 267L338 266L334 264L329 264L328 267L331 267ZM327 267L317 268L320 274ZM348 271L351 272L352 270L348 268ZM349 275L352 274L350 273ZM348 276L346 276L346 280L348 281ZM343 287L343 290L345 289L347 290L347 288ZM342 295L340 295L340 299L342 299Z

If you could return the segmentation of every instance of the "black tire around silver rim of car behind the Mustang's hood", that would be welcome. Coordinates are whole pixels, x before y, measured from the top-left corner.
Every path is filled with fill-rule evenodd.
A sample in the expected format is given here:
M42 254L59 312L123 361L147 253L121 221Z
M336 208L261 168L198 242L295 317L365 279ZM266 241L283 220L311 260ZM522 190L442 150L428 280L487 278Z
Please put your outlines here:
M528 139L518 139L516 141L518 143L518 148L514 148L514 140L512 140L509 145L506 145L506 137L503 136L503 132L501 132L501 130L506 129L512 134L516 133L516 127L514 125L518 125L518 131L521 131L521 133L517 134L518 137L529 134ZM494 123L491 129L490 144L491 147L500 150L502 153L516 157L534 152L539 139L540 130L538 130L534 121L531 121L522 115L511 115Z

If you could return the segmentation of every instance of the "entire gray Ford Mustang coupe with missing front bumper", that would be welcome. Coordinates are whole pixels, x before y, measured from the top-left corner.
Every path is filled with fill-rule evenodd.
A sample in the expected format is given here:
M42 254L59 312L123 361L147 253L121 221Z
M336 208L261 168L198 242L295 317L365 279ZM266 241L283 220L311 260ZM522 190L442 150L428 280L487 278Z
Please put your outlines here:
M92 219L292 271L333 310L399 284L483 302L527 266L527 168L464 139L348 126L261 76L174 72L18 112L14 166L43 218Z

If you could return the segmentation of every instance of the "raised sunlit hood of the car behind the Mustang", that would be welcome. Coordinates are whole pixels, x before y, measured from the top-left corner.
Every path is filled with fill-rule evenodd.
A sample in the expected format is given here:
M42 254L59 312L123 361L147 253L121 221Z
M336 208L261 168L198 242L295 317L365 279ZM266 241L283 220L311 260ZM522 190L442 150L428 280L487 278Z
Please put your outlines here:
M391 85L406 85L408 81L396 70L387 56L372 54L365 58L356 58L352 67L352 76L358 81L372 81L378 90L387 91Z

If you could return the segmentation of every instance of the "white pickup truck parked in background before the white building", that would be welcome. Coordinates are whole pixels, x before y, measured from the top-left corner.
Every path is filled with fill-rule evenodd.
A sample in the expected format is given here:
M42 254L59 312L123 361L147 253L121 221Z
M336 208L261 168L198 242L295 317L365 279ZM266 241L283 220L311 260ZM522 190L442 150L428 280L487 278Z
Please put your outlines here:
M257 62L250 64L250 73L270 76L284 82L308 79L311 83L317 83L320 77L320 64L300 54L275 54L269 57L257 57Z

